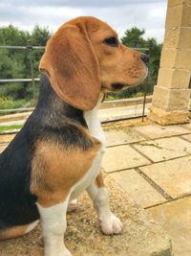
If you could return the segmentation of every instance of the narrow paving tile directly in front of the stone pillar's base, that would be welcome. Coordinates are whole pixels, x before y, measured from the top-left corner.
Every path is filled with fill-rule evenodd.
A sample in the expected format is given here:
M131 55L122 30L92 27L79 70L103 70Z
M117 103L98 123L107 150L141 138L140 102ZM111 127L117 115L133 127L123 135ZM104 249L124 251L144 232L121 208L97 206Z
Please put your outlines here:
M134 128L141 134L145 135L150 139L158 139L162 137L170 137L173 135L186 134L191 132L187 128L182 128L180 126L159 126L159 125L149 125Z

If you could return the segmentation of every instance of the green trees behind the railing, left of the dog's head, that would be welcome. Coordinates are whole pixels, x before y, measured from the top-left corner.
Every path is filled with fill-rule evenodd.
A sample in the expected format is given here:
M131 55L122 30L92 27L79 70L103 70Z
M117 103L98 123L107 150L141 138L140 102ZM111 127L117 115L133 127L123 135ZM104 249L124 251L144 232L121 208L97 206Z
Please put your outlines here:
M32 33L20 31L12 25L0 27L0 45L27 46L30 40L33 46L45 46L51 37L48 28L36 25ZM44 50L32 51L34 77L39 77L38 62ZM31 78L31 62L29 50L0 49L0 79ZM38 96L39 84L35 82L0 83L0 108L17 108L33 106Z

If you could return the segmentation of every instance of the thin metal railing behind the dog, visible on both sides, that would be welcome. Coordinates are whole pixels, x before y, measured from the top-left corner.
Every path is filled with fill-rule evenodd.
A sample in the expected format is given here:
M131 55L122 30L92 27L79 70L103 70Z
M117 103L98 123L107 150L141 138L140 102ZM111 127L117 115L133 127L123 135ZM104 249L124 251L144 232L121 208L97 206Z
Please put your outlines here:
M27 46L0 46L0 50L7 49L7 50L26 50L29 52L30 55L30 69L31 69L31 78L27 79L0 79L0 83L7 83L7 82L32 82L32 86L35 86L35 81L40 81L39 78L34 78L34 73L33 73L33 58L32 58L32 51L33 50L44 50L45 46L32 46L32 43L30 40L28 40ZM138 51L144 51L148 55L150 55L151 50L152 50L152 44L149 45L148 48L133 48ZM108 122L117 122L121 120L127 120L127 119L134 119L134 118L141 118L142 121L144 120L144 117L146 116L145 114L145 105L146 105L146 95L147 95L147 88L146 88L146 82L144 86L144 96L143 96L143 101L142 101L142 114L135 116L135 117L129 117L129 118L119 118L119 119L114 119L114 120L109 120L103 123L108 123ZM121 102L121 100L119 100ZM107 104L114 105L115 103L119 101L106 101ZM124 100L126 103L140 103L140 100L138 99L125 99ZM27 107L27 108L17 108L17 109L2 109L0 110L0 113L12 113L12 112L23 112L23 111L31 111L32 107Z

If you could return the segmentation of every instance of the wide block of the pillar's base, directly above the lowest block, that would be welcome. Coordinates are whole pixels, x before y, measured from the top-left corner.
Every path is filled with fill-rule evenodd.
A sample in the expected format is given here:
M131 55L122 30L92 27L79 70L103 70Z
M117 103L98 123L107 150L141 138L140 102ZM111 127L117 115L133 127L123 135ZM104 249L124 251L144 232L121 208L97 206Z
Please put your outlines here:
M190 89L168 89L155 86L152 104L166 111L187 110L189 100Z

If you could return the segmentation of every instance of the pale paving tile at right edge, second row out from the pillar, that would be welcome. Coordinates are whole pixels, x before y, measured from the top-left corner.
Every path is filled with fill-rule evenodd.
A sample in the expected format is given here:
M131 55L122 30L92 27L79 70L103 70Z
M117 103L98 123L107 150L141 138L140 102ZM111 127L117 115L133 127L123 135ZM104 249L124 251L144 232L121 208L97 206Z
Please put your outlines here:
M134 147L154 162L164 161L191 153L191 143L179 137L143 141L134 144Z

